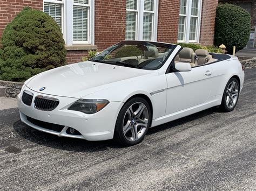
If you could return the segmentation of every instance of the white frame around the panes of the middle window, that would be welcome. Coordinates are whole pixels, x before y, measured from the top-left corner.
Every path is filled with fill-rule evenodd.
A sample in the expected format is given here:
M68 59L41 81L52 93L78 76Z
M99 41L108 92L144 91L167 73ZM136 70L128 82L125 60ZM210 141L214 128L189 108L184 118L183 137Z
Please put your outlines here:
M157 23L158 23L158 1L154 0L153 11L144 10L144 0L137 1L137 17L136 17L136 38L135 40L143 40L143 17L144 12L153 13L152 19L152 37L151 41L157 41ZM126 9L126 11L134 11L133 9Z

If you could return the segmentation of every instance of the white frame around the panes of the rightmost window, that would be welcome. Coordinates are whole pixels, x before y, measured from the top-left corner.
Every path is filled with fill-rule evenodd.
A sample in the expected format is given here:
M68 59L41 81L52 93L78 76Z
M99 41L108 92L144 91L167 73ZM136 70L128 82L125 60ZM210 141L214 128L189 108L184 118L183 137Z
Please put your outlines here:
M186 15L179 14L179 16L185 16L185 29L184 29L184 39L177 40L178 43L199 43L200 39L200 26L201 26L201 9L202 9L202 0L198 0L198 14L197 16L191 15L191 8L192 8L192 0L187 0L186 3ZM191 17L196 17L197 19L197 27L196 27L196 39L190 39L190 21Z

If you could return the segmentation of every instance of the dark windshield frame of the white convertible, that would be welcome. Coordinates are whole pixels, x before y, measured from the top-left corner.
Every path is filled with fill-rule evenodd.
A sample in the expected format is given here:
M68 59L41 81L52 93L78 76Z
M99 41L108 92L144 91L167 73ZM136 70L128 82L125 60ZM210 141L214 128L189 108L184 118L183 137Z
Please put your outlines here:
M151 68L139 68L139 67L134 67L136 69L145 69L145 70L157 70L157 69L160 69L161 67L163 67L166 63L166 61L169 59L170 55L172 54L172 52L174 51L174 49L177 48L178 45L175 45L175 44L168 44L168 43L160 43L160 42L155 42L155 41L144 41L144 40L123 40L123 41L120 41L120 43L117 43L113 46L110 46L109 48L106 48L104 51L100 52L99 54L97 54L96 56L94 56L93 58L91 58L89 61L92 61L92 62L99 62L99 63L105 63L105 64L110 64L110 65L117 65L117 66L122 66L122 65L119 65L118 63L106 63L104 62L104 59L102 60L102 62L100 62L99 59L97 59L97 57L100 55L100 54L103 54L104 52L107 52L105 53L106 55L107 54L110 54L111 52L115 51L117 48L119 48L120 46L124 46L124 45L136 45L136 46L139 46L139 45L142 45L143 44L152 44L156 47L161 47L161 48L169 48L170 51L169 53L167 54L166 58L164 59L164 61L162 61L161 65L159 65L158 67L155 67L153 69ZM103 54L104 55L104 54ZM155 60L155 59L153 59ZM106 60L107 61L107 60ZM127 65L123 65L123 67L129 67ZM131 66L130 66L131 67Z

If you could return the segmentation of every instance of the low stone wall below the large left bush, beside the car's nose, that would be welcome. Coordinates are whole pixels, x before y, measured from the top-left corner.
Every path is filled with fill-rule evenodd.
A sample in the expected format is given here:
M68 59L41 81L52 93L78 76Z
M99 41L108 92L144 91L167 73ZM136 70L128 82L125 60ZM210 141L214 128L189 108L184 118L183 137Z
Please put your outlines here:
M22 82L8 82L0 80L0 86L5 87L5 96L6 97L14 97L21 92L22 86L24 83Z

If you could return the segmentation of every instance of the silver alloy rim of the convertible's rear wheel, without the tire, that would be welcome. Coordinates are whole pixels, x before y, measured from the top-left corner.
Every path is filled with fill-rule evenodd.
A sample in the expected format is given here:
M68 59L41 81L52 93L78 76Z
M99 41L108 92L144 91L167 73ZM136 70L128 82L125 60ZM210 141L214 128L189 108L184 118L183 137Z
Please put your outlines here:
M237 82L230 82L226 91L226 105L229 109L232 109L237 103L238 99L238 84Z

